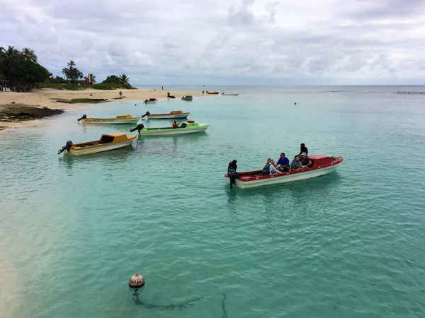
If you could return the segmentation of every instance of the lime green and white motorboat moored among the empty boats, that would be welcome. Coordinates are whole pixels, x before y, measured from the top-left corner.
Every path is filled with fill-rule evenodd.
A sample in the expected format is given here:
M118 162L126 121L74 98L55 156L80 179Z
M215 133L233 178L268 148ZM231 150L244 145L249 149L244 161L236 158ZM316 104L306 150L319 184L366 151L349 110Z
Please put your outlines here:
M198 122L193 122L193 120L188 120L188 122L183 122L177 126L177 128L173 128L172 126L147 128L143 124L138 124L137 127L131 129L130 131L137 130L141 136L168 136L205 132L209 126L210 124L199 124Z

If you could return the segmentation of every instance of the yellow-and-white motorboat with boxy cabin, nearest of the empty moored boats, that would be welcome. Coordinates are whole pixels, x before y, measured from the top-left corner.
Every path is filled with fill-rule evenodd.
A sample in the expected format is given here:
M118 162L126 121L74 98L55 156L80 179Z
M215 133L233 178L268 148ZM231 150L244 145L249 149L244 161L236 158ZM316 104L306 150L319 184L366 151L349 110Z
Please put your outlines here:
M117 148L130 146L136 139L136 135L127 135L124 133L103 134L101 139L95 141L88 141L86 143L72 143L67 141L63 146L60 153L64 152L67 155L89 155L90 153L101 153L102 151L110 151Z

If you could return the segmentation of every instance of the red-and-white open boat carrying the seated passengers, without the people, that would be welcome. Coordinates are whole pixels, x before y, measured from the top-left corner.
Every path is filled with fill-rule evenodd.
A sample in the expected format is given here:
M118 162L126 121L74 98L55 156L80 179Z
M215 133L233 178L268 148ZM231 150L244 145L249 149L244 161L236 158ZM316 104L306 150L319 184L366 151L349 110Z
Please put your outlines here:
M276 175L263 175L261 170L239 172L239 178L235 179L235 185L245 189L310 179L335 171L343 161L342 157L329 157L328 155L309 155L309 158L312 160L312 167L306 167L299 171L282 172ZM225 177L228 178L228 175L225 175Z

